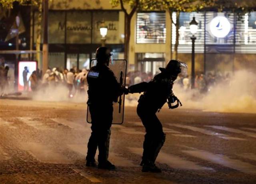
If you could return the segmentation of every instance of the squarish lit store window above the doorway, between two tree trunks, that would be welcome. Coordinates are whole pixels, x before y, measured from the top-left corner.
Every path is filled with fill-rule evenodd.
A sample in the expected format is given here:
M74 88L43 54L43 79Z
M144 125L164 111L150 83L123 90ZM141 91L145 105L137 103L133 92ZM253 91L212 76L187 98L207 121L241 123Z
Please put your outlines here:
M165 12L137 13L136 43L166 42Z

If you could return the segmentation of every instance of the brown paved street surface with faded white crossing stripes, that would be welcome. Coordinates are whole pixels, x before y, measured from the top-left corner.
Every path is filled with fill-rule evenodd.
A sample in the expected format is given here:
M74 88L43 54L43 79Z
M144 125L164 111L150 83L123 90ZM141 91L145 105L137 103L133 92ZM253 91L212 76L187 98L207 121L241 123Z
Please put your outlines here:
M183 102L185 105L186 102ZM0 100L0 183L256 183L256 114L163 108L162 173L142 173L136 107L112 126L115 171L86 168L86 104ZM97 158L97 157L96 157Z

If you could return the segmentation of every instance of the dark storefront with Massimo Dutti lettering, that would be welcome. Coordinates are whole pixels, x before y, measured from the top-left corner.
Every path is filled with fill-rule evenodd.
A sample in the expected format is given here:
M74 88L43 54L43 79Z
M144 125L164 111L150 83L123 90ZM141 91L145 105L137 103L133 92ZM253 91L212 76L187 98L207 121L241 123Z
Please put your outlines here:
M37 13L34 14L36 25ZM107 26L106 45L121 58L124 52L124 16L117 10L50 10L48 18L49 67L89 68L101 45L100 25ZM36 26L33 31L36 42Z

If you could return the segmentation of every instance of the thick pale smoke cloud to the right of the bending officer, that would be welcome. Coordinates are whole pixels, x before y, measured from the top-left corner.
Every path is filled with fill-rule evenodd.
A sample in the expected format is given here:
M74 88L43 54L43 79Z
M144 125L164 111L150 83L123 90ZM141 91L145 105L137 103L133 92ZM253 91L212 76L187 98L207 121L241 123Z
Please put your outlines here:
M237 71L229 81L209 88L206 94L196 90L184 91L174 85L173 91L183 102L182 108L196 108L215 112L256 113L256 74Z

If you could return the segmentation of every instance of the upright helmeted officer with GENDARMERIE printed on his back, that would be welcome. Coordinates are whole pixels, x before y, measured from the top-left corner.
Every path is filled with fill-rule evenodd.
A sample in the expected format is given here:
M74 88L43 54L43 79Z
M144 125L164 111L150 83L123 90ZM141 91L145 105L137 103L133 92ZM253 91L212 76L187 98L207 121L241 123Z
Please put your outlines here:
M86 77L88 82L87 104L92 120L86 166L96 166L94 156L98 148L98 168L108 170L115 169L115 166L108 161L113 102L117 102L118 96L122 94L120 84L112 70L108 68L111 55L108 48L99 47L96 50L97 64L90 68Z

